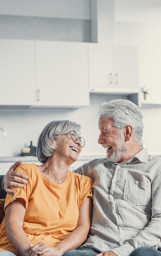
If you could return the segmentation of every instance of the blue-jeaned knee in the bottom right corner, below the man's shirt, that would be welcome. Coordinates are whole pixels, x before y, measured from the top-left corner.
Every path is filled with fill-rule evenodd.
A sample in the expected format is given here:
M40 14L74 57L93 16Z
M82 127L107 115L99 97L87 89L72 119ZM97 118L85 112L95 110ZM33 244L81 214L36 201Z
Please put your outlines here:
M161 252L152 247L139 247L134 249L129 256L161 256Z

